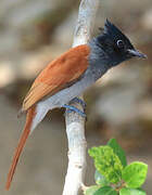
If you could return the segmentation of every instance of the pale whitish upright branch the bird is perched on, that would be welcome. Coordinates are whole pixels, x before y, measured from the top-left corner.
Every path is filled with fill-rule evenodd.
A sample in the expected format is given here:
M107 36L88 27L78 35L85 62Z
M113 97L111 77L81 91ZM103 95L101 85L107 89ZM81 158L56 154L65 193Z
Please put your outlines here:
M73 47L85 44L90 39L100 0L81 0ZM80 96L83 99L83 96ZM83 107L75 103L75 107ZM85 118L77 113L66 113L66 133L68 139L68 168L63 195L78 195L84 183L86 168Z

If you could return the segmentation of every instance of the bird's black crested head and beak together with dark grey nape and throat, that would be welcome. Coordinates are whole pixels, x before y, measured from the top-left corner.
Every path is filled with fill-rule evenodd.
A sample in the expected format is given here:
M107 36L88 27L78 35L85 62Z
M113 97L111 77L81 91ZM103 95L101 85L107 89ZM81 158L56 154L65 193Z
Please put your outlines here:
M89 46L93 58L98 58L101 64L104 62L109 68L135 56L145 58L145 55L137 51L127 36L109 20Z

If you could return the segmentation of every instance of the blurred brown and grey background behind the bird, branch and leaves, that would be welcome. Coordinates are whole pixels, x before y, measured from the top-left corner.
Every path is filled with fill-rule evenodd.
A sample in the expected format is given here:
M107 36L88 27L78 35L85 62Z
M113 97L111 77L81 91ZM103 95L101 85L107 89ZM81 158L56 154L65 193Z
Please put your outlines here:
M67 166L64 110L49 113L28 139L10 192L4 182L25 116L16 115L37 74L71 48L77 0L0 1L0 194L62 193ZM112 69L85 93L88 147L116 138L128 162L149 165L144 190L152 191L152 1L101 1L92 35L105 18L119 26L148 60ZM93 183L88 157L86 183Z

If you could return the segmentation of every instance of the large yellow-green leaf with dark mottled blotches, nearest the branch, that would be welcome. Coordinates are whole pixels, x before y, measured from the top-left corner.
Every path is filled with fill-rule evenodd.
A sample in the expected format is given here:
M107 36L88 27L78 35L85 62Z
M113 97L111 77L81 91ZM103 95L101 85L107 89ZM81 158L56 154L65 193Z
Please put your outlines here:
M117 183L122 180L123 165L118 156L110 146L92 147L89 155L94 159L96 169L109 182Z

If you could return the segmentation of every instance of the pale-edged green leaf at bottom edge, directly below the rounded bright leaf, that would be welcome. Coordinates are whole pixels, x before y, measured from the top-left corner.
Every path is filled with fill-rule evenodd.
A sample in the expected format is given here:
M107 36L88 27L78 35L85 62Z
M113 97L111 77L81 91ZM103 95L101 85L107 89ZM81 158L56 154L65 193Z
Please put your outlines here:
M147 193L142 190L124 187L119 191L119 195L147 195Z

